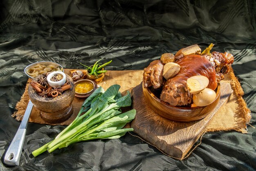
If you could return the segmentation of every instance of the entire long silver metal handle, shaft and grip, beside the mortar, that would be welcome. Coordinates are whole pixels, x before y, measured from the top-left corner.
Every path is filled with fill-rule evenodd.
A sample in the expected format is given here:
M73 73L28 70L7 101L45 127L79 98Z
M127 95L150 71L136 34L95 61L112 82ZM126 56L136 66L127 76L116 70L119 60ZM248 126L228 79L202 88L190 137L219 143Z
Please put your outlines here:
M20 154L22 152L23 143L27 131L27 123L29 121L29 116L31 110L33 108L33 103L29 100L27 105L27 109L23 116L23 119L20 123L20 127L16 132L13 140L11 141L11 145L7 149L5 156L4 156L4 164L9 166L18 166L20 162Z

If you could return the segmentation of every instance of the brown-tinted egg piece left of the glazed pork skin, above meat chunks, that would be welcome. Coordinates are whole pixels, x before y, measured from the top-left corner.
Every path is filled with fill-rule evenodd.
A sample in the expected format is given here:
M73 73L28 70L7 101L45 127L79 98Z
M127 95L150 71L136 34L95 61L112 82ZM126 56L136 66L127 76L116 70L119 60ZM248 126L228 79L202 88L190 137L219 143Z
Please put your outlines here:
M169 62L164 65L163 76L166 80L174 77L180 71L180 65Z

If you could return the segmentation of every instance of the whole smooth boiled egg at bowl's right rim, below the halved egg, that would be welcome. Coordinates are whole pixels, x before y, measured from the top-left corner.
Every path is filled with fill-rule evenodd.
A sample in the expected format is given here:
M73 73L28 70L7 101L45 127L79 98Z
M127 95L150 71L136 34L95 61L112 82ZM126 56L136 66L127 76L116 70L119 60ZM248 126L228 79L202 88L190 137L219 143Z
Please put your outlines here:
M216 98L216 92L210 88L205 88L197 94L193 94L193 103L197 106L207 106Z

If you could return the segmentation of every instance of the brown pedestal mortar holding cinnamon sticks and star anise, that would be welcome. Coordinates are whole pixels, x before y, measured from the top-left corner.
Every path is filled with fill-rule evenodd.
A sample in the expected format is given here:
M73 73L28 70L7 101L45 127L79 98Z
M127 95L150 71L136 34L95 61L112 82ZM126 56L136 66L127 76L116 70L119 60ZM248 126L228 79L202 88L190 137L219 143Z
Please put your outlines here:
M37 76L34 80L37 81ZM41 97L38 96L34 88L29 85L29 98L34 106L40 111L40 116L47 123L61 123L66 121L73 113L72 101L75 97L74 81L66 75L67 81L70 81L71 88L65 90L57 97Z

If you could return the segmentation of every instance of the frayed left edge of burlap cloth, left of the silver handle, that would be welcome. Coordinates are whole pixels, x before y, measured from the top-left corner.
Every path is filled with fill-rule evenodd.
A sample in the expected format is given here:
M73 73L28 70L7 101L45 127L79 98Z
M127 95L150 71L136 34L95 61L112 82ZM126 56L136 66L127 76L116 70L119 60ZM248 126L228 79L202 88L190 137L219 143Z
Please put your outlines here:
M16 117L17 121L22 121L22 118L24 116L24 113L27 109L27 104L29 103L29 96L28 96L28 88L29 88L29 84L31 83L31 79L27 80L27 84L25 87L25 91L22 94L20 101L16 104L16 112L14 112L11 117Z

